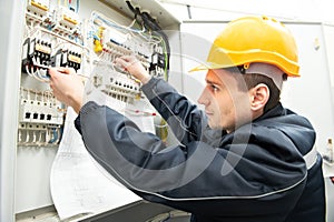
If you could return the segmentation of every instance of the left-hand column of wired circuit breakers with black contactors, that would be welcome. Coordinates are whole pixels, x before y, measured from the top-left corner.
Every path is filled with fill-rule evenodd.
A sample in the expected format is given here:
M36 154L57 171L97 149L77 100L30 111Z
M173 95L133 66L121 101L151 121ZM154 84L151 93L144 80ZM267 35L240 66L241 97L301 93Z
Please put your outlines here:
M58 147L66 107L48 85L50 67L80 72L84 36L78 13L49 0L28 0L22 46L18 145Z

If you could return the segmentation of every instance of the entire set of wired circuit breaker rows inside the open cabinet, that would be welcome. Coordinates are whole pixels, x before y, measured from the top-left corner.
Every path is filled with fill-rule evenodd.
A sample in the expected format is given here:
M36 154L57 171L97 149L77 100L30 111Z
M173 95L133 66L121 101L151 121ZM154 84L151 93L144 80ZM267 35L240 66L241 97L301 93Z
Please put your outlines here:
M166 77L161 39L120 26L98 12L81 21L77 12L78 7L69 3L27 1L19 145L57 147L60 142L67 110L48 85L50 67L72 68L107 95L127 103L143 99L140 82L114 67L116 58L135 54L151 75Z

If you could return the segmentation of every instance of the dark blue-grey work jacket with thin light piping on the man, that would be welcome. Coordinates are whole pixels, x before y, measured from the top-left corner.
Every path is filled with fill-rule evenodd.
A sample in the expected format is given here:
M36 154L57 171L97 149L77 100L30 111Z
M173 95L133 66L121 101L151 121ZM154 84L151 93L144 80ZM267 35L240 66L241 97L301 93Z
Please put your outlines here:
M324 222L315 132L281 103L233 133L210 130L203 111L163 80L143 87L179 144L166 147L112 109L88 102L76 119L89 153L128 189L193 213L199 222Z

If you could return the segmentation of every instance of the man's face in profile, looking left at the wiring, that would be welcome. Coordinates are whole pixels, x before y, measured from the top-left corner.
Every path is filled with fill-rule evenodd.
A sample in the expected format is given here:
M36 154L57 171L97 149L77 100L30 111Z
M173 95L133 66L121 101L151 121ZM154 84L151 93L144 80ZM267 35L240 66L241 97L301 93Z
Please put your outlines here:
M240 90L235 75L224 69L208 70L206 87L198 99L205 105L212 129L234 131L252 120L249 94Z

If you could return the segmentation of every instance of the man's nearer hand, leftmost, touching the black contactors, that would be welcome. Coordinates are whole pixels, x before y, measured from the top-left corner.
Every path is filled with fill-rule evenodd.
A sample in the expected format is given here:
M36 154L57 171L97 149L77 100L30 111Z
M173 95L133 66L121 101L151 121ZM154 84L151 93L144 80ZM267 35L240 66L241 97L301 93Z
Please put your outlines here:
M85 90L81 78L69 68L52 68L49 69L49 74L53 95L79 113Z

